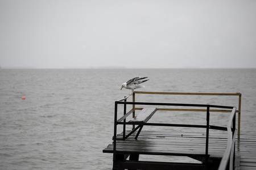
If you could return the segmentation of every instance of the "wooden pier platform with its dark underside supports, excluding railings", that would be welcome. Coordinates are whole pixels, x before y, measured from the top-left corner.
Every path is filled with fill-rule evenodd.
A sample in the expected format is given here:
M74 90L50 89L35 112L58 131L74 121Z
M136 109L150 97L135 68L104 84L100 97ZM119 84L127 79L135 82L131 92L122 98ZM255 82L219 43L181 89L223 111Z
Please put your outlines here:
M135 139L135 134L133 134L125 141L122 140L122 135L117 136L116 154L118 156L113 169L133 168L135 161L137 169L144 169L145 166L147 169L159 167L159 169L205 169L206 167L204 164L206 160L205 134L141 131L138 139ZM209 137L207 161L211 169L218 168L225 152L226 142L227 139L224 136L211 135ZM110 144L103 152L113 153L113 144ZM126 160L125 155L133 155L137 159ZM139 162L139 155L188 156L202 163Z

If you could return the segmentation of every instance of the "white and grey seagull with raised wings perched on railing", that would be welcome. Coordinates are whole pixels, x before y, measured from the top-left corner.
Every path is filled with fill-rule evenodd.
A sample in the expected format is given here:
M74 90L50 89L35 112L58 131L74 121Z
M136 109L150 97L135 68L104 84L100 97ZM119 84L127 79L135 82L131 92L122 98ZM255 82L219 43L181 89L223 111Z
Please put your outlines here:
M141 83L146 82L147 80L149 80L149 79L143 80L143 79L146 79L146 78L147 77L141 78L141 77L137 76L137 77L135 77L133 79L130 79L126 83L122 84L121 90L122 90L123 87L125 87L126 89L130 89L131 90L131 94L130 95L133 95L134 89L141 88L141 87L144 88L145 87Z

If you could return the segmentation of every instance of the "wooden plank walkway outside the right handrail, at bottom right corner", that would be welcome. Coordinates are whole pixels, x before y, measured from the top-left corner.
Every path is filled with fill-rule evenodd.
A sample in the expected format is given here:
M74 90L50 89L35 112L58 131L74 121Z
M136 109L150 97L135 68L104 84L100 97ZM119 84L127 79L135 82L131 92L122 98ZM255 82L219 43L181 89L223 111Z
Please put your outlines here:
M241 134L236 151L240 156L240 167L236 169L256 169L256 134Z

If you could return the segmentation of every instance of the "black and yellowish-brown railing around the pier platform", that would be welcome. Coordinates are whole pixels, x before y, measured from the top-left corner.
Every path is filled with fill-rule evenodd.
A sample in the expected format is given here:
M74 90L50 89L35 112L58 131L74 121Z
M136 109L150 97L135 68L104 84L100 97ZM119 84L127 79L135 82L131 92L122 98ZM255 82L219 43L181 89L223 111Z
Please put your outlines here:
M164 94L164 95L233 95L239 96L239 109L237 111L236 107L228 107L222 105L210 105L210 104L177 104L177 103L148 103L148 102L136 102L135 94ZM123 125L123 138L125 140L132 133L138 130L141 125L140 122L126 122L126 118L133 113L133 117L135 116L136 110L142 110L141 107L148 107L149 105L158 106L158 111L193 111L193 112L205 112L206 113L206 125L195 125L195 124L168 124L168 123L147 123L144 122L143 126L170 126L170 127L183 127L183 128L204 128L206 129L206 137L205 137L205 165L208 164L209 154L208 154L208 146L209 146L209 129L215 130L224 130L228 131L228 144L225 150L225 154L221 160L219 169L233 169L234 167L234 147L236 141L236 113L238 113L238 126L240 126L240 113L241 113L241 94L203 94L203 93L167 93L167 92L134 92L133 101L127 101L128 97L125 97L121 100L115 101L115 112L114 112L114 136L113 136L113 161L115 161L115 154L117 151L117 126ZM123 105L123 116L118 118L118 105ZM127 105L131 105L132 109L130 111L126 111ZM165 108L161 108L161 106L167 106ZM173 107L183 107L183 108L173 108ZM228 126L214 126L210 125L210 112L231 112L230 118L228 122ZM133 130L129 134L125 134L126 125L133 125ZM135 126L137 125L137 128ZM141 130L141 129L140 129ZM239 127L240 130L240 127ZM138 135L138 134L137 134Z

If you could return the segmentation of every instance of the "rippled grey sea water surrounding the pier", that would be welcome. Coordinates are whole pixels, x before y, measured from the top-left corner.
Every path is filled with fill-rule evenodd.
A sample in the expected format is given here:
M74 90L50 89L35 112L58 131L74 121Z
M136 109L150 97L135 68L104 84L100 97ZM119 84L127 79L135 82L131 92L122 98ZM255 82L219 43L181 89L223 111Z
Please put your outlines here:
M240 92L241 133L255 133L256 69L1 69L0 169L112 169L112 154L102 150L112 143L114 101L130 94L121 84L134 76L150 79L137 91ZM138 100L238 104L238 97L194 97ZM180 117L176 123L199 118ZM225 125L224 117L212 122Z

